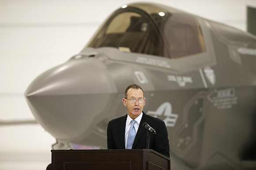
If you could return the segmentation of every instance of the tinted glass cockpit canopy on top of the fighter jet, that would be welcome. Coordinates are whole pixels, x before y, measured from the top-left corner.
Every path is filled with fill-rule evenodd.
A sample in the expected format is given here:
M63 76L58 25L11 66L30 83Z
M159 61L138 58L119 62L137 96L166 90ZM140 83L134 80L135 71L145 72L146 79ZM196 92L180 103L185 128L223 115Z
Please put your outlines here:
M87 46L114 47L167 58L205 52L197 18L148 3L123 5L106 20Z

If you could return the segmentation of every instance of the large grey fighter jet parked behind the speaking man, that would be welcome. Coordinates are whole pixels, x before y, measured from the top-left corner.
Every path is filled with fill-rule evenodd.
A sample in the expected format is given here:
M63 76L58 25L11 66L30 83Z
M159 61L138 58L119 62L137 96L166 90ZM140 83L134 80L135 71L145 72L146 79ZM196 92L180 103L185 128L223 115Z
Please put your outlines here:
M172 170L256 168L256 37L172 7L123 5L81 52L36 78L27 103L54 149L106 148L138 84L167 126Z

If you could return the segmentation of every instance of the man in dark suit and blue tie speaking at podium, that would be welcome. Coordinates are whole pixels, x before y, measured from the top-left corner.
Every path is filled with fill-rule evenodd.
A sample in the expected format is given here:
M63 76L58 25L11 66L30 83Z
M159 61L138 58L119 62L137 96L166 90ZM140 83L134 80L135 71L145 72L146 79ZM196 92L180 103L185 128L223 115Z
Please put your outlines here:
M143 89L139 85L129 85L124 91L122 101L127 107L128 114L109 121L108 149L146 149L147 131L143 124L147 122L156 131L156 134L151 133L149 148L169 157L166 125L162 120L143 112L143 107L146 104Z

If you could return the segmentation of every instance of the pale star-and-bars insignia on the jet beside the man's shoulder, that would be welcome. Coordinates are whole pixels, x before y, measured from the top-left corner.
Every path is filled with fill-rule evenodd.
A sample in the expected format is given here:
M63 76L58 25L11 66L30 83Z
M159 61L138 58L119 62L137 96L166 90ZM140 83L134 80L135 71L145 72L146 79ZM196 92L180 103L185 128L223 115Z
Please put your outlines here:
M162 103L156 111L148 111L148 115L154 116L158 118L158 116L163 115L164 118L163 121L166 124L166 127L174 127L176 124L176 121L178 119L178 115L172 113L172 105L169 102Z

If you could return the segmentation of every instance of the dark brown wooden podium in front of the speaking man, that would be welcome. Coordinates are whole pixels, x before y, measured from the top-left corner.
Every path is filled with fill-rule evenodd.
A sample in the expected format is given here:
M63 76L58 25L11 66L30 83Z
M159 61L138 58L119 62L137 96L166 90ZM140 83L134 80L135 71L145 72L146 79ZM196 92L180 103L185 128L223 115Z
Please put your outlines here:
M151 149L51 150L51 170L170 170L170 159Z

